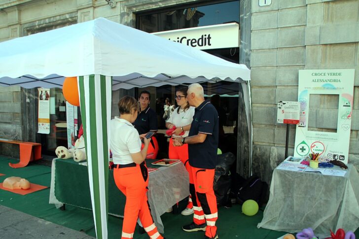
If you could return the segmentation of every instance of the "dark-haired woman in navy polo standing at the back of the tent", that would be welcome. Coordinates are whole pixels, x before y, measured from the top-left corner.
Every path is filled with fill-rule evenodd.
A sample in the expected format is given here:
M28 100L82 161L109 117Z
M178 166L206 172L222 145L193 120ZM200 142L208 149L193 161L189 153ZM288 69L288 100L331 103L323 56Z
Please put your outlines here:
M147 134L149 131L157 132L158 123L156 112L149 107L149 101L151 95L148 91L142 91L140 93L139 102L141 112L133 123L135 129L139 132L139 135ZM148 145L146 159L155 159L158 153L158 142L155 137L152 137L150 144Z

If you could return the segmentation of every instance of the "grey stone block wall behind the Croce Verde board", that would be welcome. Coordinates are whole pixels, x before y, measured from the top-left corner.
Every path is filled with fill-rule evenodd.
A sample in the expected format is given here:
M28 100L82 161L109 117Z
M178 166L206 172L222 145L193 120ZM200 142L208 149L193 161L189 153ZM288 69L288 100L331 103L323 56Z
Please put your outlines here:
M297 101L298 70L355 68L350 163L359 159L359 0L272 0L251 10L251 86L253 173L270 182L284 160L286 126L276 124L276 102ZM312 128L336 128L336 118L323 117L335 96L317 100ZM295 127L289 130L293 155Z

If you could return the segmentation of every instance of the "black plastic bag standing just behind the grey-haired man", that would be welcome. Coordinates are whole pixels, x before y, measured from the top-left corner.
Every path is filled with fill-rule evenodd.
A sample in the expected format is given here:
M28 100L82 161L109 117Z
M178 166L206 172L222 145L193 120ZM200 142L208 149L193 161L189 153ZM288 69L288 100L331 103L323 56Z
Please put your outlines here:
M231 176L229 169L235 160L236 158L231 152L218 155L213 189L219 206L230 204Z

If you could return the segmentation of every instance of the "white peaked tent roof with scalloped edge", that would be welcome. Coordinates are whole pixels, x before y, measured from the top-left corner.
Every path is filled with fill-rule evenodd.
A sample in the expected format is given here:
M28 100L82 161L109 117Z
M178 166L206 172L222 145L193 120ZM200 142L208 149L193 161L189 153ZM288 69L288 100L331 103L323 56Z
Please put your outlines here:
M245 65L98 18L0 43L0 86L61 87L63 76L113 76L119 88L250 80Z

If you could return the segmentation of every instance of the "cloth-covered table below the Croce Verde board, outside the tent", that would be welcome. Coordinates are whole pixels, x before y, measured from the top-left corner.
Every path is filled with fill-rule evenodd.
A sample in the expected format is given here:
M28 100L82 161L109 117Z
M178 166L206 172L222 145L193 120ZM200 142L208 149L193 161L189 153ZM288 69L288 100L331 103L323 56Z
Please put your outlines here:
M331 168L341 170L338 166ZM344 177L320 172L275 169L268 204L257 228L289 233L313 228L317 236L329 229L359 227L359 175L349 164Z

